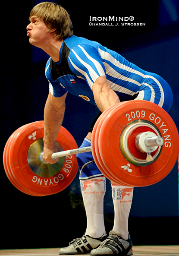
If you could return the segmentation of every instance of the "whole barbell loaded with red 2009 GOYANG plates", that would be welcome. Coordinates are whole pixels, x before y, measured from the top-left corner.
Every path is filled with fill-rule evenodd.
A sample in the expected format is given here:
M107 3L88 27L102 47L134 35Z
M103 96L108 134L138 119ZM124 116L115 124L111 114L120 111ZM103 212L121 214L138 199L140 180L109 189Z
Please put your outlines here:
M3 164L13 185L28 195L64 190L78 171L75 154L92 152L100 171L124 186L149 186L170 173L179 154L179 135L170 115L148 101L125 101L100 115L91 147L77 148L63 126L56 139L55 164L43 160L44 121L26 124L7 140Z

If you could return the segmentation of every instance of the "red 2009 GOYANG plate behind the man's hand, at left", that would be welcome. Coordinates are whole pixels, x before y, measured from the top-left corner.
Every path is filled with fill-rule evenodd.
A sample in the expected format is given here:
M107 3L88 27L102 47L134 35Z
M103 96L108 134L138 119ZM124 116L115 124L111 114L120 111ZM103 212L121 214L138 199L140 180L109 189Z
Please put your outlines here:
M44 121L34 122L27 129L18 133L13 143L14 151L9 152L9 163L16 180L26 190L38 196L51 195L62 191L72 182L78 171L75 155L66 156L63 167L60 170L55 170L55 175L43 177L43 174L41 176L41 174L32 171L27 161L28 149L43 136ZM77 148L74 138L64 127L60 128L57 142L63 150Z

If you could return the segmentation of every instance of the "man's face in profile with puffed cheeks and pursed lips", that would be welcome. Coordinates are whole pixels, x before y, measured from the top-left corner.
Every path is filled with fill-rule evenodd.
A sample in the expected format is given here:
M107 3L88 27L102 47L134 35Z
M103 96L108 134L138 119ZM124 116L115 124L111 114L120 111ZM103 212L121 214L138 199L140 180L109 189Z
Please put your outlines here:
M30 44L44 48L47 39L52 36L43 19L31 16L30 24L27 26L27 36Z

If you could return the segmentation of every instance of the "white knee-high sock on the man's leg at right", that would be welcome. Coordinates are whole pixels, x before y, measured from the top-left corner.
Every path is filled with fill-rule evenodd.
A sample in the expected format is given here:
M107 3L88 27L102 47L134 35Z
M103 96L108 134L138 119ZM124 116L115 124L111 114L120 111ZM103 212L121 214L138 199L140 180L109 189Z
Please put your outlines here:
M128 239L128 218L132 205L134 187L120 186L112 183L112 197L114 205L113 230L119 231L123 239Z

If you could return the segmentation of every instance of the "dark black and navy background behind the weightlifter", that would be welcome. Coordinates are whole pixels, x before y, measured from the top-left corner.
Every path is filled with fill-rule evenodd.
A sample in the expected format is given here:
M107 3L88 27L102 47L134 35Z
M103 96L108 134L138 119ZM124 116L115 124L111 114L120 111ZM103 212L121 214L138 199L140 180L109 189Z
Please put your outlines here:
M41 1L5 3L1 19L1 150L20 126L43 120L48 95L45 64L49 56L31 46L26 36L28 16ZM71 16L74 34L119 52L144 70L162 76L173 90L169 112L179 128L179 2L178 0L126 1L126 5L69 3L55 1ZM90 26L89 16L134 16L145 26ZM100 22L99 22L100 23ZM109 22L107 22L109 23ZM111 23L111 22L110 22ZM115 22L113 22L115 23ZM79 111L80 110L80 111ZM81 145L96 107L68 95L63 126ZM64 247L81 237L86 228L85 209L78 174L62 192L33 197L17 190L6 177L1 164L0 249ZM177 164L159 183L135 188L129 217L129 232L134 245L179 244ZM113 228L113 203L110 183L104 201L106 231Z

